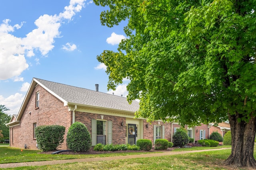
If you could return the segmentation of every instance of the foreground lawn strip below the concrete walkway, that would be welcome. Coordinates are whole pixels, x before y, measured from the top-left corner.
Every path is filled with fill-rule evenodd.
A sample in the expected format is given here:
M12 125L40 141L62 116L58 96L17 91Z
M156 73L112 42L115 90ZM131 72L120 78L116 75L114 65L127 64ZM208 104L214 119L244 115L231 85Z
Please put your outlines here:
M128 160L112 160L99 162L75 162L46 166L26 166L16 170L70 170L70 169L110 169L110 170L231 170L222 166L231 150L214 150L200 153L189 153L172 156L150 158L134 158ZM14 168L8 168L14 169Z

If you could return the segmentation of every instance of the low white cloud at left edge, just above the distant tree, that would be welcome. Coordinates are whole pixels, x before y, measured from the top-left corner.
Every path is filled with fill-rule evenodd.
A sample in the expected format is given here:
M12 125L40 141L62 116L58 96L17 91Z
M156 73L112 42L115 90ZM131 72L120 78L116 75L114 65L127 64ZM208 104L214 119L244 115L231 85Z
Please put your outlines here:
M4 98L0 96L0 103L4 105L9 111L5 111L5 113L9 115L18 114L22 102L24 100L24 95L20 93L16 93L14 95L9 96L8 98Z

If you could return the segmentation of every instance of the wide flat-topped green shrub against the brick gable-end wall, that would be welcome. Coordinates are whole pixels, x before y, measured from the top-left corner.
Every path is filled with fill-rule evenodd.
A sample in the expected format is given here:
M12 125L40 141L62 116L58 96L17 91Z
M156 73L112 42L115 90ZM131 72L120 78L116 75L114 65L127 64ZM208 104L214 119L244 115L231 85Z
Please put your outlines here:
M60 125L44 125L35 128L36 142L43 151L56 150L64 141L65 127Z

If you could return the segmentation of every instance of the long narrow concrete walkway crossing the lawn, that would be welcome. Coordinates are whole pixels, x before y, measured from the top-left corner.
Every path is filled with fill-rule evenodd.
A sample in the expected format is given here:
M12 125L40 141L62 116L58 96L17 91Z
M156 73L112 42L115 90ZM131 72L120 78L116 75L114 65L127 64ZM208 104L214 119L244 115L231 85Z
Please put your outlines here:
M108 157L98 157L98 158L82 158L82 159L67 159L67 160L48 160L48 161L38 161L38 162L21 162L21 163L10 163L10 164L0 164L0 168L15 168L20 166L43 166L43 165L54 165L54 164L66 164L73 162L98 162L98 161L110 161L119 159L132 159L132 158L148 158L154 156L168 156L175 154L186 154L195 152L205 152L212 150L223 150L231 148L221 148L221 149L206 149L206 150L190 150L190 151L164 151L162 153L151 153L151 154L138 154L138 155L128 155L128 156L108 156Z

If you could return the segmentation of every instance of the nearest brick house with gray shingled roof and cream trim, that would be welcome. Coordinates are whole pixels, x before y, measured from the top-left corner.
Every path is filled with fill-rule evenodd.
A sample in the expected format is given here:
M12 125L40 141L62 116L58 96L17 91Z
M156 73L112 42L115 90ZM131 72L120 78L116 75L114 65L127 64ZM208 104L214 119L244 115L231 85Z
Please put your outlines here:
M121 96L106 94L33 78L18 115L6 125L10 128L10 146L36 148L35 127L62 125L66 127L64 143L59 149L68 149L66 135L75 121L86 125L92 146L97 143L136 144L138 139L172 141L172 123L146 122L134 119L139 102L128 104Z

